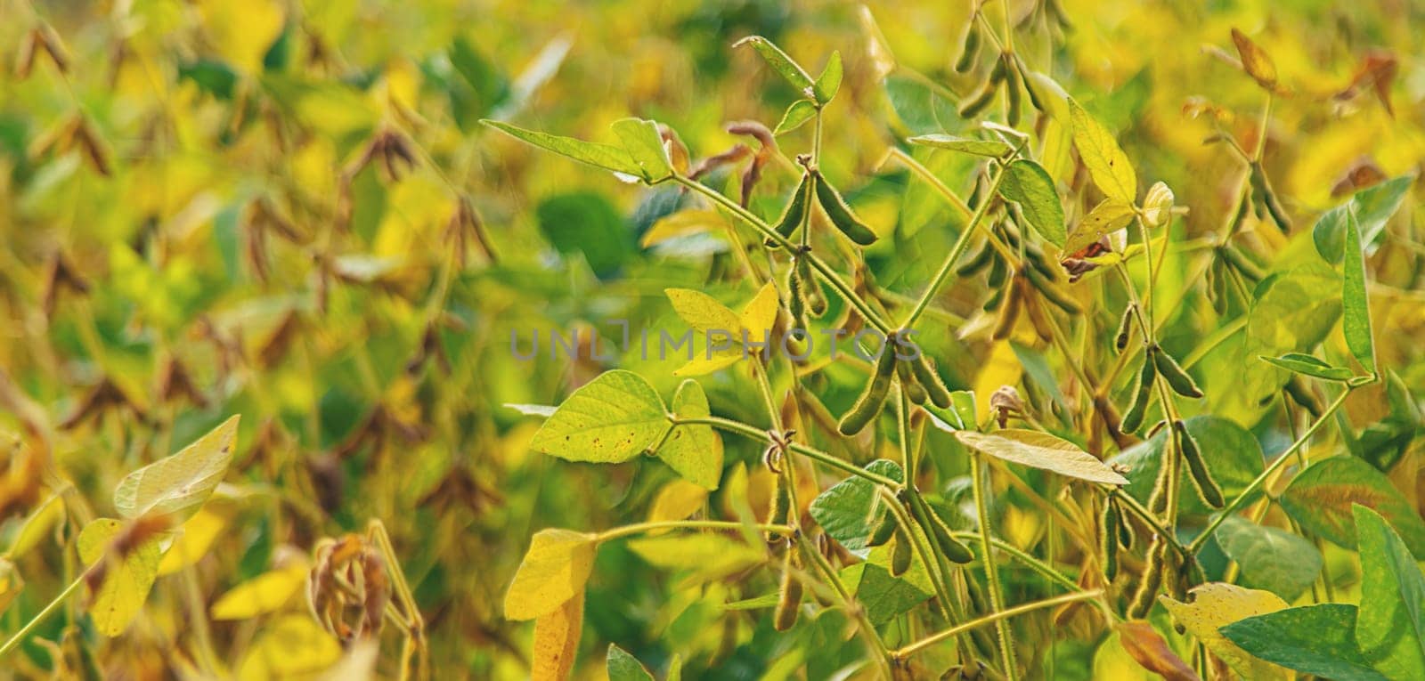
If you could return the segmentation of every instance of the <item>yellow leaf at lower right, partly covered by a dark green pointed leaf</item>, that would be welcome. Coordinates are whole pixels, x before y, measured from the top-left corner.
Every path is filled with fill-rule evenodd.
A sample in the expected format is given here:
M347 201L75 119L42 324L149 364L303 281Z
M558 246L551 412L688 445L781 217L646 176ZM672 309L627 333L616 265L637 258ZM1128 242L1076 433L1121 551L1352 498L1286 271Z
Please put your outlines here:
M1258 660L1217 633L1218 628L1234 621L1282 610L1287 607L1287 601L1271 591L1224 583L1193 587L1190 593L1191 603L1178 603L1167 596L1159 596L1159 601L1173 615L1173 620L1197 637L1203 645L1207 645L1207 650L1223 658L1243 678L1291 678L1290 671Z

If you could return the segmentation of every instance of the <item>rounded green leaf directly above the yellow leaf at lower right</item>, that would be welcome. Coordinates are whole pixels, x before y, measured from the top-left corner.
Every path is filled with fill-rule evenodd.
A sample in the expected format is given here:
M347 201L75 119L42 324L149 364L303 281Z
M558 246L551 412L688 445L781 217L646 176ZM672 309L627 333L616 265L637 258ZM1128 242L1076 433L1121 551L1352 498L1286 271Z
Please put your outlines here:
M1228 517L1217 529L1223 553L1241 566L1243 584L1265 588L1294 601L1321 573L1321 551L1311 541L1243 517Z

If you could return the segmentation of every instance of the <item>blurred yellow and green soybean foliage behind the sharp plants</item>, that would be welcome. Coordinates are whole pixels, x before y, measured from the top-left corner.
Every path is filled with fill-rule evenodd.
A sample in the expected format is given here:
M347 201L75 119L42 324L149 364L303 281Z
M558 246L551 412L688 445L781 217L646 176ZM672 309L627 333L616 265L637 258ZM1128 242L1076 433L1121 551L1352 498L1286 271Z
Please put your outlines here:
M846 83L828 110L822 167L889 236L866 251L875 281L915 295L960 218L879 161L906 134L968 127L955 104L978 77L950 70L968 4L868 3L895 54L886 71L868 54L858 6L842 1L0 0L0 425L14 433L0 536L13 537L66 480L93 506L71 513L108 513L123 473L241 413L238 459L212 503L222 531L194 581L160 578L125 635L76 644L97 654L108 678L191 668L191 620L202 605L302 564L318 539L361 531L369 519L393 537L436 678L527 674L529 623L504 621L499 604L530 534L640 520L674 476L653 459L596 467L527 454L537 423L502 405L557 403L614 366L668 395L680 360L637 350L554 360L547 346L537 360L517 360L512 333L523 346L550 331L614 333L613 319L681 331L664 288L745 301L754 286L737 275L722 229L646 238L691 201L675 188L613 181L477 120L608 140L608 123L638 115L667 123L704 157L738 141L725 123L772 127L797 98L752 51L731 48L737 38L767 36L811 68L839 50ZM1012 1L1009 11L1032 6ZM1119 132L1141 177L1174 188L1190 208L1173 227L1183 239L1216 231L1235 199L1241 165L1203 142L1211 121L1255 144L1260 90L1204 50L1231 50L1230 27L1274 56L1291 90L1271 110L1265 158L1298 224L1340 202L1355 168L1396 177L1425 155L1421 3L1063 6L1072 28L1053 41L1026 38L1022 54ZM30 73L19 73L36 27L63 67L41 44ZM1398 64L1385 97L1351 87L1371 56ZM779 144L789 157L809 134ZM913 154L956 191L970 189L970 161ZM1050 170L1073 180L1070 164ZM754 211L775 215L795 180L789 164L772 164ZM1409 218L1388 229L1372 256L1378 353L1418 392L1425 249ZM1248 238L1281 258L1311 249L1307 229ZM1194 276L1190 258L1174 256L1160 293L1177 298ZM959 333L982 295L978 284L948 291L938 306L949 316L921 339L952 388L988 386L988 395L1020 380L1020 366L1043 368L1025 379L1033 403L1079 399L1053 383L1067 375L1057 353L1030 343L1006 369L1003 358L988 362L995 346L983 333ZM1200 292L1187 295L1164 328L1174 350L1217 323ZM1327 353L1345 349L1328 342ZM1233 362L1203 358L1208 407L1280 450L1290 433L1248 396L1234 397L1244 379ZM821 397L841 413L861 373L825 373ZM704 386L714 413L758 420L747 376L721 372ZM1348 423L1365 427L1387 410L1382 390L1364 390L1347 405ZM886 443L864 445L835 446L864 462ZM932 443L932 460L963 473L946 452L953 446ZM757 456L728 439L730 467L755 470ZM1414 452L1406 460L1392 476L1418 501ZM754 497L758 484L765 494L770 480L752 476ZM1016 543L1033 546L1046 531L1029 511L1006 513ZM27 586L0 630L48 603L73 560L57 543L17 560ZM694 678L822 678L859 655L828 641L829 627L771 635L765 617L720 608L770 584L750 576L681 588L608 546L589 587L581 658L597 661L617 641L650 668L681 654ZM304 608L298 594L274 610ZM275 617L209 623L224 667L241 667ZM37 634L58 641L68 621L46 621ZM1053 638L1047 618L1026 627ZM1045 655L1063 648L1062 678L1086 678L1097 641L1057 634ZM30 643L0 675L43 677L63 664L57 650Z

